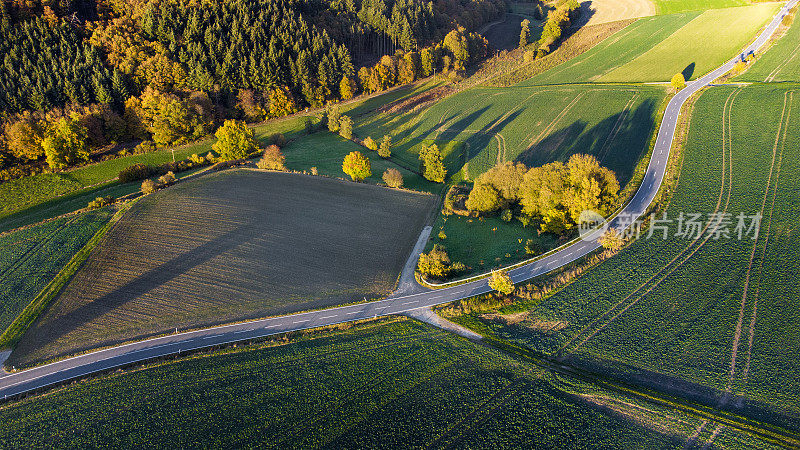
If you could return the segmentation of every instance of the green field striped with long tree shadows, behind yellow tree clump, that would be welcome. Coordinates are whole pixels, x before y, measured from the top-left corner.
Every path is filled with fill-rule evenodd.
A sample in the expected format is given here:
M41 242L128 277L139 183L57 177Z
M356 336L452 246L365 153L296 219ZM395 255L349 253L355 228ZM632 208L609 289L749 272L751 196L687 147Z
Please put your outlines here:
M624 184L643 156L664 95L649 86L475 88L422 113L371 117L356 134L392 134L393 157L414 166L422 142L457 141L443 151L448 173L460 172L456 179L474 179L503 161L534 166L588 153Z

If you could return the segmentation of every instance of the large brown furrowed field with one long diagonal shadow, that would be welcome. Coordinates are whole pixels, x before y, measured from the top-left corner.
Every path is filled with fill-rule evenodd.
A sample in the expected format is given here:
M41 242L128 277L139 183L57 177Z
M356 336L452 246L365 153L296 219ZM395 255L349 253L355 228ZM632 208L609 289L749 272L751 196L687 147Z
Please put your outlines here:
M9 364L387 295L436 203L254 170L170 187L109 232Z

